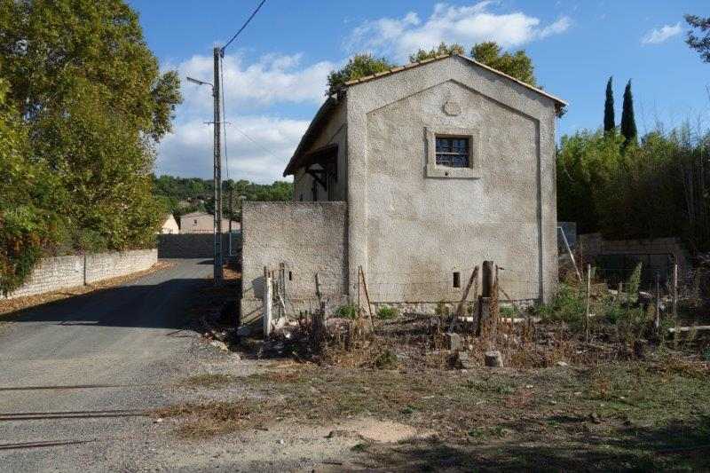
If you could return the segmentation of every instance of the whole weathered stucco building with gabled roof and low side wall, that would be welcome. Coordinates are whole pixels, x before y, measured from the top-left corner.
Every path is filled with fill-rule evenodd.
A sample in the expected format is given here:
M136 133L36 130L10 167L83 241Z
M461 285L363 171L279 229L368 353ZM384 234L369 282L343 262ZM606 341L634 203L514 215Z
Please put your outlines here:
M283 264L293 311L355 301L432 309L473 267L513 299L556 287L556 116L564 101L476 61L441 56L347 83L288 162L295 201L246 202L242 318ZM315 275L319 275L316 285ZM362 294L362 293L360 293Z

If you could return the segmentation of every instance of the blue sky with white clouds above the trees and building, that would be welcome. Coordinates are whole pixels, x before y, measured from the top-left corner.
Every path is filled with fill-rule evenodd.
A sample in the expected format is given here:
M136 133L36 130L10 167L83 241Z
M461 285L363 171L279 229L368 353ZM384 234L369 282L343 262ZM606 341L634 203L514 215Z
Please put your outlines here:
M212 47L225 41L256 0L129 0L163 68L211 81ZM683 42L682 15L710 14L706 1L427 2L267 0L227 51L225 104L229 176L280 178L313 114L325 99L328 71L351 54L372 51L405 62L419 45L495 40L525 49L538 82L570 106L558 137L596 129L604 88L614 76L617 121L633 81L641 132L657 121L705 123L710 64ZM174 133L158 150L158 173L210 177L209 90L184 83Z

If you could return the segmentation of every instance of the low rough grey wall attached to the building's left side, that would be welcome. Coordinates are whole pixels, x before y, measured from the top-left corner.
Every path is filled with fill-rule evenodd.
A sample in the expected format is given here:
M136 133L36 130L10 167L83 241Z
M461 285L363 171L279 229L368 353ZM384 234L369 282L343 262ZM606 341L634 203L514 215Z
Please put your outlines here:
M287 311L315 310L315 274L330 307L347 300L347 203L245 202L242 210L242 323L260 318L264 266L285 267Z

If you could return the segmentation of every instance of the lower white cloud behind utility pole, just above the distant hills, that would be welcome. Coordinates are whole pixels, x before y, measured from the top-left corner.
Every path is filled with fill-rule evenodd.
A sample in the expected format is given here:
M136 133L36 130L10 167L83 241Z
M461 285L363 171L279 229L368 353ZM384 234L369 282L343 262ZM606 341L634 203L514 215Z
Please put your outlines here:
M307 121L258 115L230 118L230 122L226 133L229 177L258 183L282 178L288 159L308 127ZM158 174L211 177L212 133L211 125L199 120L177 124L160 145ZM223 169L223 179L226 174Z

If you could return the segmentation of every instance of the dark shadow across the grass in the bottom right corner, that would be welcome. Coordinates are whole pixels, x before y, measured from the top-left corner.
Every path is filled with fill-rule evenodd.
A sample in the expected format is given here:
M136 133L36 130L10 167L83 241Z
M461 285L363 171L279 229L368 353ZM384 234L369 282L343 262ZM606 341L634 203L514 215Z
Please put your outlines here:
M416 440L368 445L360 460L387 471L652 471L710 469L710 417L664 427L625 427L571 441L495 441L451 445Z

